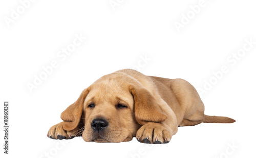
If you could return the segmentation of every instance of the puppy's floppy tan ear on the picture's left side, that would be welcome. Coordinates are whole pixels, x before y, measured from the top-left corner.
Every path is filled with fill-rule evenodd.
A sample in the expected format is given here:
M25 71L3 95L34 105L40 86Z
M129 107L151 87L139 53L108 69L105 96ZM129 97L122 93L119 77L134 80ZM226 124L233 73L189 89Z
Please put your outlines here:
M65 111L60 115L60 118L64 121L62 128L65 130L73 130L76 128L81 120L83 101L89 93L89 88L84 89L73 104L71 104Z

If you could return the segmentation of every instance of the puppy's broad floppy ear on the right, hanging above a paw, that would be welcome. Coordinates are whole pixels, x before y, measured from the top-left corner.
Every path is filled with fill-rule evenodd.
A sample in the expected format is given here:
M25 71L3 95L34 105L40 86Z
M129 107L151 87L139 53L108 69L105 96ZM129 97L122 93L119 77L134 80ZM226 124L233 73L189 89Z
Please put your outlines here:
M167 119L163 114L155 97L147 89L130 87L134 97L134 112L137 122L144 125L146 122L162 122Z

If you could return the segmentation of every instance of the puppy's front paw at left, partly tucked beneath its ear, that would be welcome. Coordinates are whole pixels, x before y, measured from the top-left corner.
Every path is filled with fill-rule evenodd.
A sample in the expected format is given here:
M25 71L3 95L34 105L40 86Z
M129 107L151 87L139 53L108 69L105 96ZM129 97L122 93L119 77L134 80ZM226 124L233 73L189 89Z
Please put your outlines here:
M73 139L75 137L77 132L72 132L72 131L66 131L65 129L62 128L62 122L52 126L48 133L47 137L51 139Z

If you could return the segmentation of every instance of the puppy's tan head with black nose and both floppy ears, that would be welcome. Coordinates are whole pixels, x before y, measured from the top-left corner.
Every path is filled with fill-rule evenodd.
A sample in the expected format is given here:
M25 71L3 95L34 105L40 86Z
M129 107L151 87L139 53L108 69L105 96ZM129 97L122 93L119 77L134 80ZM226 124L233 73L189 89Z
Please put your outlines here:
M82 138L86 142L123 142L131 141L146 122L161 122L167 117L154 96L133 78L110 74L84 89L61 118L69 121L63 126L65 130L74 129L83 119Z

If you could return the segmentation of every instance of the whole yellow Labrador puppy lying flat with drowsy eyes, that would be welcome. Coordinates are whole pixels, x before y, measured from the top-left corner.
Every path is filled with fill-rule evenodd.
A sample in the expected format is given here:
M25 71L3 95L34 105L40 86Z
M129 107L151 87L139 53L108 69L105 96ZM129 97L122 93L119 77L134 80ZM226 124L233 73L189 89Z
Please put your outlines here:
M125 69L105 75L84 89L61 113L47 136L86 142L168 143L178 126L233 123L227 117L204 115L196 89L183 79L145 76Z

